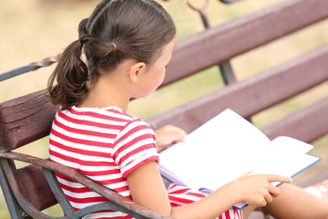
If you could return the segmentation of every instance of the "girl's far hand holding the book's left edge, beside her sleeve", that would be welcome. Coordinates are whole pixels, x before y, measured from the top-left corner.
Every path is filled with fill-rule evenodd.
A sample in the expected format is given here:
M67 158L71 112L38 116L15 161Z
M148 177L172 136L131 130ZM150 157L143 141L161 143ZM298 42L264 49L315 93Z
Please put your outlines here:
M157 151L161 152L179 141L184 141L187 133L176 126L166 125L155 130L155 136Z

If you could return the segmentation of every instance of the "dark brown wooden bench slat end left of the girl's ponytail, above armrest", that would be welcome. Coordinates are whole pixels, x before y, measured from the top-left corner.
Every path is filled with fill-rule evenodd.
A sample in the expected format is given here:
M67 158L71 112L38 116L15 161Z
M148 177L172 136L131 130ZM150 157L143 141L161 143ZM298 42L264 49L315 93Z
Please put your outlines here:
M11 151L49 134L57 107L46 90L0 103L0 151Z

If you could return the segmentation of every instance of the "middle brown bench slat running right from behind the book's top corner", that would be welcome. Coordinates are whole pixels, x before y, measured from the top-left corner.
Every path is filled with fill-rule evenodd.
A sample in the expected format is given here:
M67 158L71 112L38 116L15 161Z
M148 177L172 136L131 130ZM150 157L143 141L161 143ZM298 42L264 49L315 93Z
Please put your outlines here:
M328 80L327 69L328 45L147 121L154 129L170 123L192 131L227 108L247 118Z

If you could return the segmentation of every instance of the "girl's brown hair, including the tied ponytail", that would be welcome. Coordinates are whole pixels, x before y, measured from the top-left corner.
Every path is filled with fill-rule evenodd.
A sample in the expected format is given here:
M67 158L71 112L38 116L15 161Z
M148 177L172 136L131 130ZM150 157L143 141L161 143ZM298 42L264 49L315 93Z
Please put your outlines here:
M80 22L78 40L65 49L48 80L52 103L61 110L82 103L87 84L100 75L98 69L114 70L124 59L151 65L175 35L171 17L153 0L103 0ZM82 48L87 64L81 59Z

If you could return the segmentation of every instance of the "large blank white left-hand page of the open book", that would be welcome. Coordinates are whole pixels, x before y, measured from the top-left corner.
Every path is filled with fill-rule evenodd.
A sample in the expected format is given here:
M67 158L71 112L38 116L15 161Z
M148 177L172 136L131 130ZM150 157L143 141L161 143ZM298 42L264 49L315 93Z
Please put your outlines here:
M190 133L185 142L161 152L159 163L194 189L216 190L261 165L265 157L256 159L253 151L265 150L269 144L261 130L225 110Z

